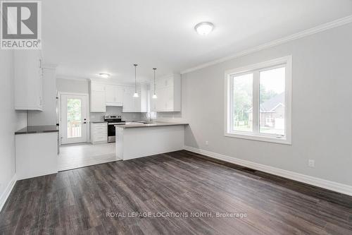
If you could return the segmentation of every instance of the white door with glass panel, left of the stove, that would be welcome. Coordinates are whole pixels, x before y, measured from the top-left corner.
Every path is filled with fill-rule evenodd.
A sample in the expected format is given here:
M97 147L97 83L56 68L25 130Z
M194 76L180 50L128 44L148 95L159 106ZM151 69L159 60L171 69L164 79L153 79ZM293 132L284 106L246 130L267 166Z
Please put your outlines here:
M61 143L87 142L88 95L61 95Z

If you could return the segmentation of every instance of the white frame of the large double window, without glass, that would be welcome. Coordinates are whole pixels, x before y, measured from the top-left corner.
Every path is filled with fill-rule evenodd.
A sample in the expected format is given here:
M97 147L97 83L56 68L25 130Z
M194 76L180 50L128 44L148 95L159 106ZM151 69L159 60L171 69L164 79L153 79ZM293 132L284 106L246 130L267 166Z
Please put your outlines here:
M272 135L259 132L259 85L258 71L266 71L285 66L285 135ZM253 72L253 132L231 131L232 128L232 79L233 76ZM292 56L285 56L263 63L225 71L225 136L247 140L291 145L291 98L292 97Z

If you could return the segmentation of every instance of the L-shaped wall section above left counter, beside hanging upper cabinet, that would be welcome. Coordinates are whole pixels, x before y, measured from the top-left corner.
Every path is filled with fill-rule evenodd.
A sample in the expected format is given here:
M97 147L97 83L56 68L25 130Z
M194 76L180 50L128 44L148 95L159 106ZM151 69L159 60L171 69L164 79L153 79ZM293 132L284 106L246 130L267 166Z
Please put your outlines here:
M56 125L56 70L44 68L43 111L28 112L28 126Z

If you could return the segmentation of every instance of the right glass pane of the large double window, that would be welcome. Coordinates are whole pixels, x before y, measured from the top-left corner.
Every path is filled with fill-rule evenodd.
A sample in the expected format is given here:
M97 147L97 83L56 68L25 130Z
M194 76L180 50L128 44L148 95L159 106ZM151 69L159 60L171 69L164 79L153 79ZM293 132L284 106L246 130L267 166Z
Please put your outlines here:
M259 131L260 133L284 135L285 68L262 71L259 78Z

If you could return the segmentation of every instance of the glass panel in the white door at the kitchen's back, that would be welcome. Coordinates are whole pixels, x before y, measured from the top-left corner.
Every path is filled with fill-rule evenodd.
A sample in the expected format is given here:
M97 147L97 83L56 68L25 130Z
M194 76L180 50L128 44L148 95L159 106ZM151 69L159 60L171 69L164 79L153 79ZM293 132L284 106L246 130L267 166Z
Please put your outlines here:
M67 99L67 138L82 136L82 100Z

